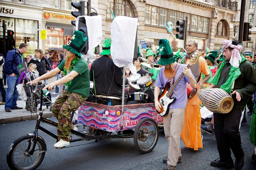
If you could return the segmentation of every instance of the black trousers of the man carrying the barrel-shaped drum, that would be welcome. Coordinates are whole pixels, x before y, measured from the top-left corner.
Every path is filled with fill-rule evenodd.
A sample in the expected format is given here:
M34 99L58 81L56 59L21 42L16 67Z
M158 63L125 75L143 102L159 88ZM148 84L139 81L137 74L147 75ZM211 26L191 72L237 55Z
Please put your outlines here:
M233 108L229 113L214 113L214 132L221 161L229 161L231 151L236 159L243 156L239 132L242 111Z

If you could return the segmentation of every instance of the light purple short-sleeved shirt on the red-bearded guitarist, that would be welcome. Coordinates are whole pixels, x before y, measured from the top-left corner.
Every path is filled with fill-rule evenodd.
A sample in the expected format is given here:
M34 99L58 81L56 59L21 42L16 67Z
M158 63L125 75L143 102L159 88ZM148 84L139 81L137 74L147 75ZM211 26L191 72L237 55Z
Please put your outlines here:
M176 67L177 65L175 65ZM174 77L174 83L180 77L183 68L186 67L186 64L180 64L180 67L178 68L176 75ZM175 69L174 67L174 69ZM166 78L163 73L164 66L161 67L159 71L159 75L156 78L155 86L157 87L165 87L165 85L170 82L170 79ZM192 74L193 75L193 74ZM193 76L194 77L194 76ZM170 108L185 108L188 100L187 96L187 83L189 83L189 78L187 76L183 76L178 83L178 85L174 88L173 95L171 95L171 98L176 97L176 101L174 101L171 105Z

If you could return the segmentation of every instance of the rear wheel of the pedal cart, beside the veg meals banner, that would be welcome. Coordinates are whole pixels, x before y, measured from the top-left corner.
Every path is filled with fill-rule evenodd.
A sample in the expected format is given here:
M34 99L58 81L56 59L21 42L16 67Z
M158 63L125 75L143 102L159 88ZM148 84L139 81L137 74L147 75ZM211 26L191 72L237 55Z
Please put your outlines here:
M146 154L155 148L158 137L159 129L156 121L152 118L144 118L135 128L133 141L137 150Z

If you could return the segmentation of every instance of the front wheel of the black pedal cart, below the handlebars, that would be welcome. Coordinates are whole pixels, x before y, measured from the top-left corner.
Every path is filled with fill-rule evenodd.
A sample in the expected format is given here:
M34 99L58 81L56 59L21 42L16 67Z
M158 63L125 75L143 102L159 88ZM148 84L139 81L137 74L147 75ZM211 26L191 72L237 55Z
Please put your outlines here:
M6 159L10 169L14 170L33 170L39 167L45 157L46 144L37 138L35 151L29 155L29 151L34 144L34 136L25 135L16 139L10 146Z

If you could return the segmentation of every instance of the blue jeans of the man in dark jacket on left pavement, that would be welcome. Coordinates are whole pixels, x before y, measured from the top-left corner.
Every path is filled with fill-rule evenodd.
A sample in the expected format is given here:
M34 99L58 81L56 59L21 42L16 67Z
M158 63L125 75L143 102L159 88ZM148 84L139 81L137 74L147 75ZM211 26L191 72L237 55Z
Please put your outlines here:
M6 75L7 80L7 91L6 91L6 98L5 98L5 109L14 109L17 107L17 99L18 99L18 91L16 85L19 84L19 78L17 76L9 76Z

